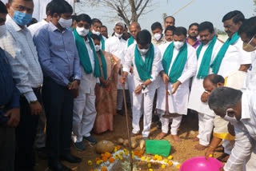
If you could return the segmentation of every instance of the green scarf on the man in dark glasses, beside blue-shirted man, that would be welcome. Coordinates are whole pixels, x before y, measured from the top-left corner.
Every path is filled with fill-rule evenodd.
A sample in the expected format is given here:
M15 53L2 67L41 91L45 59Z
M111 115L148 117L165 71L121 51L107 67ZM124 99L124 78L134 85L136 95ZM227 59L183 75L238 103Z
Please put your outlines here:
M85 40L82 38L82 36L80 36L78 34L76 29L74 29L73 33L74 33L74 38L75 38L75 44L78 48L80 63L82 65L82 67L84 68L86 74L91 74L91 73L93 73L93 68L90 63L90 57L88 54L88 50L86 48ZM96 54L96 51L94 48L94 42L91 40L89 35L87 35L86 37L87 37L87 40L89 40L90 47L94 52L94 77L99 78L99 77L101 77L102 72L101 72L101 68L100 68L99 62L98 62L98 57L97 57L97 54Z

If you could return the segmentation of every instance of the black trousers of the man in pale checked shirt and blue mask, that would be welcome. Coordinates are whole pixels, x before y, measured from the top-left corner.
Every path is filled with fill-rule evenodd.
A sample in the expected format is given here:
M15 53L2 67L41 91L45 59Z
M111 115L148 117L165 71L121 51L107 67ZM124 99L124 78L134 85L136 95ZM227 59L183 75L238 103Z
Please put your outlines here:
M42 101L40 90L34 91L38 101ZM15 170L34 170L34 139L38 127L38 115L31 115L30 104L26 97L20 97L20 122L16 128Z

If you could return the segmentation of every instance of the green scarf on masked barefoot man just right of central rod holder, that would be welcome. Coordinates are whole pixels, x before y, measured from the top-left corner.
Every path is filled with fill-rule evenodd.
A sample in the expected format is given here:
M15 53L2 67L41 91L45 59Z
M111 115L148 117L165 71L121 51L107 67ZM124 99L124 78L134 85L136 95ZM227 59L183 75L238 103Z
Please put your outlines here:
M165 74L167 75L170 69L170 63L172 61L173 54L174 54L174 42L171 42L170 45L166 48L166 51L162 57L162 66L165 71ZM182 46L182 48L178 50L178 55L175 58L174 63L170 69L169 82L171 82L172 84L177 82L178 78L181 77L184 67L186 65L186 59L187 59L187 45L185 43L184 46Z

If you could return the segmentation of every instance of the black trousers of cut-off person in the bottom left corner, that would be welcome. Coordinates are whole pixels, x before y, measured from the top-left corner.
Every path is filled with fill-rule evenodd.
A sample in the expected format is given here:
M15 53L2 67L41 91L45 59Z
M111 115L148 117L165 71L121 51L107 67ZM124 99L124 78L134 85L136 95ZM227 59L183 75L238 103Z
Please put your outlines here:
M14 171L15 129L0 126L0 171Z

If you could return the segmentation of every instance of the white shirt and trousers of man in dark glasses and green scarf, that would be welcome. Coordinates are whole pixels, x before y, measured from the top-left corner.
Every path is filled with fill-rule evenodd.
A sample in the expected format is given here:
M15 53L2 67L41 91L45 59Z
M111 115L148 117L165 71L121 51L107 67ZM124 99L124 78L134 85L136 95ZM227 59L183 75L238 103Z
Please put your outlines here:
M94 52L90 47L89 40L85 42L88 54L90 57L90 64L94 71ZM74 142L82 141L82 137L89 137L90 131L94 127L96 118L95 109L95 93L94 88L98 78L94 77L94 73L86 74L83 66L81 65L81 83L78 89L78 97L74 98L73 109L73 133L72 139Z

